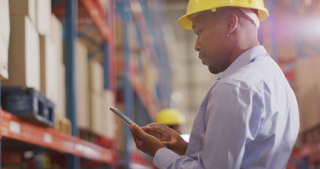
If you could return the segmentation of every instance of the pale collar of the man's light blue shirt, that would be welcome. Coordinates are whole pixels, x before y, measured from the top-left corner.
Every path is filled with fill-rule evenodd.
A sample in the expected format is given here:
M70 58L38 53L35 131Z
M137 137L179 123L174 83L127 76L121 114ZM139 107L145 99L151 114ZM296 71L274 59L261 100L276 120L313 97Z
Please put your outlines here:
M262 45L255 46L246 52L242 53L231 65L223 72L221 72L220 77L217 80L223 79L232 73L236 72L239 68L248 64L253 58L267 53Z

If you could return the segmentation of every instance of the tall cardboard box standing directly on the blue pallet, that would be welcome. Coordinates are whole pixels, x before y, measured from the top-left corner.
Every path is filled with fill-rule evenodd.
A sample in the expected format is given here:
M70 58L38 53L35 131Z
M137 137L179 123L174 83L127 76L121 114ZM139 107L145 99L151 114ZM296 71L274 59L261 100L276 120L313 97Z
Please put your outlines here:
M9 79L2 86L27 86L40 91L39 34L28 16L10 17Z

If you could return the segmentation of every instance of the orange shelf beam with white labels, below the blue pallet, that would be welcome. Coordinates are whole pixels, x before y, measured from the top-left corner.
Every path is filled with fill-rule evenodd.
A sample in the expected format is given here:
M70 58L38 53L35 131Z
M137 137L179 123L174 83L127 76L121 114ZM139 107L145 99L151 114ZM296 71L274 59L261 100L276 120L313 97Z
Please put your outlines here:
M49 149L74 154L89 160L113 163L115 151L81 140L52 128L33 125L0 109L1 136Z

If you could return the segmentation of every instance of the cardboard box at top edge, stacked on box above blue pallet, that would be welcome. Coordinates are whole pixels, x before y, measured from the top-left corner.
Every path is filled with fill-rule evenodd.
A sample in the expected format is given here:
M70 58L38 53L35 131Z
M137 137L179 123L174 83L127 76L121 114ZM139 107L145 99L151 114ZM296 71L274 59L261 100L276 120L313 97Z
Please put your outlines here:
M10 16L28 15L32 23L36 25L36 0L9 0L9 7Z

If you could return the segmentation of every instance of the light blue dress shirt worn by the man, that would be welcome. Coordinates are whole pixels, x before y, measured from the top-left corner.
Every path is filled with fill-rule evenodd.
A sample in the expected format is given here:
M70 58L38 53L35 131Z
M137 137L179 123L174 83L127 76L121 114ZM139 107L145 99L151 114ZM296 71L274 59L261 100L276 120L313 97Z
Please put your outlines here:
M265 53L253 47L221 73L196 114L186 155L159 149L156 167L285 168L299 131L298 106L274 60L256 58Z

